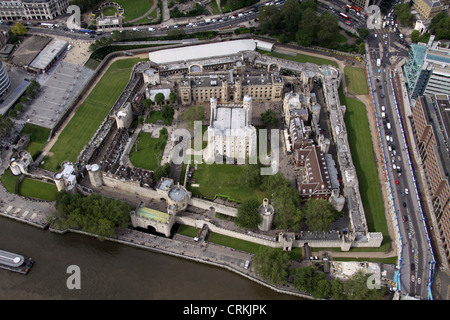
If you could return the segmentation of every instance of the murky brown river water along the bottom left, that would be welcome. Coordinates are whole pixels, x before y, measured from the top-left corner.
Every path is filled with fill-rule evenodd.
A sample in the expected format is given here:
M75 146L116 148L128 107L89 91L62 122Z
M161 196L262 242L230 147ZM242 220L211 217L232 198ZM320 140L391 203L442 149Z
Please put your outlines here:
M28 275L0 269L0 299L299 299L218 267L4 217L0 249L35 260ZM80 268L79 290L67 288L70 265Z

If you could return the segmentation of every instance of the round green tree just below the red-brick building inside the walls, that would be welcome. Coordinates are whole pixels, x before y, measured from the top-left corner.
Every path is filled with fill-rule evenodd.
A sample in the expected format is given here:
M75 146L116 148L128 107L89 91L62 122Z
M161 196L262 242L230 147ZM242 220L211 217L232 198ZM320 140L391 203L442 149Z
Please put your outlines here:
M339 216L331 203L322 199L309 199L302 211L305 223L312 231L327 231L330 223Z

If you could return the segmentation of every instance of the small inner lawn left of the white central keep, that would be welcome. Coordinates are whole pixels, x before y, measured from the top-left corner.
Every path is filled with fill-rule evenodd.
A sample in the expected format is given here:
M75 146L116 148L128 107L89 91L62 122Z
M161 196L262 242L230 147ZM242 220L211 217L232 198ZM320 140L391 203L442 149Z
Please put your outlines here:
M160 134L159 138L152 138L151 133L141 132L138 141L138 151L133 146L130 152L131 163L138 168L155 170L161 162L167 137Z

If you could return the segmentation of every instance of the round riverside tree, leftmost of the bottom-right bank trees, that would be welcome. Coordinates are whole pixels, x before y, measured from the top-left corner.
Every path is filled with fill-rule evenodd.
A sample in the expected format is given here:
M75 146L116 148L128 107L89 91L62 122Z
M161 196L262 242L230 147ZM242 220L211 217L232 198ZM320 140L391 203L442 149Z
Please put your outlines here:
M255 272L273 284L286 284L291 263L286 251L261 247L253 258Z

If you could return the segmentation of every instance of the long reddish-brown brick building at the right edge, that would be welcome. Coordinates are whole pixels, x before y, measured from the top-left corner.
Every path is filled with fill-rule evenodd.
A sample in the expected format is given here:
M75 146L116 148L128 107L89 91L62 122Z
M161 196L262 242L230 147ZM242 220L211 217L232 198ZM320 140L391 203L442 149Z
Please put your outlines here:
M450 262L450 97L422 96L416 100L412 128L425 171L426 185L439 230L436 231Z

